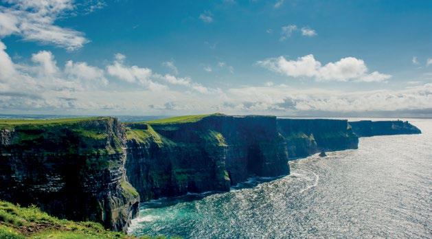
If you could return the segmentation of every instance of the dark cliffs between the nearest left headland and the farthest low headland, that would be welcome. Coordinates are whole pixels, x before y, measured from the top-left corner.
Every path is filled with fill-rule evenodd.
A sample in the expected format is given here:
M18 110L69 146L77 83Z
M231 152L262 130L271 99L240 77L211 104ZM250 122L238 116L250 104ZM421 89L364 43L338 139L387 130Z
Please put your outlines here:
M288 157L357 148L346 120L210 115L129 124L126 172L141 200L228 191L252 175L289 174Z

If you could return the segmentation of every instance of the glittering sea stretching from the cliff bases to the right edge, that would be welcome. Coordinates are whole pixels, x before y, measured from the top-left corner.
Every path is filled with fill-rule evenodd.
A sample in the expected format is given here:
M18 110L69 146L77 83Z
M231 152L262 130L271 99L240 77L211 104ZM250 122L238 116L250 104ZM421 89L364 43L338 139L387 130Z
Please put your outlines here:
M142 203L130 234L184 238L432 238L432 120L422 135L290 161L291 174L222 194Z

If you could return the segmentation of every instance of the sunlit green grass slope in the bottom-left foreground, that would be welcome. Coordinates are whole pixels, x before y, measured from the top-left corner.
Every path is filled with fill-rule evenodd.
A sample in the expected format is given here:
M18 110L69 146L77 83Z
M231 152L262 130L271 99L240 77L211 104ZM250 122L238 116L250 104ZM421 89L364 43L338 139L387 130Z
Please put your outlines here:
M136 192L136 191L135 191ZM0 201L0 238L135 238L109 231L99 223L58 219L37 207L19 207Z

